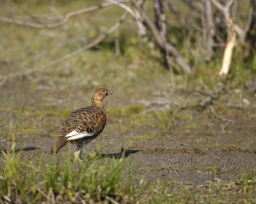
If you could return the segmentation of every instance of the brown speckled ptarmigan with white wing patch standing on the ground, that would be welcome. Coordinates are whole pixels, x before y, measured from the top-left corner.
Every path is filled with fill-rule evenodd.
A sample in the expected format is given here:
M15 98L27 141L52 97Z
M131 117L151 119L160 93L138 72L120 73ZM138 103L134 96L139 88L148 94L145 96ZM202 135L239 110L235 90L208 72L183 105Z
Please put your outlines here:
M80 108L70 114L60 128L56 152L68 142L75 143L74 157L79 159L86 144L100 135L106 125L102 100L109 94L112 92L108 89L97 89L93 94L91 106ZM52 149L51 152L53 151Z

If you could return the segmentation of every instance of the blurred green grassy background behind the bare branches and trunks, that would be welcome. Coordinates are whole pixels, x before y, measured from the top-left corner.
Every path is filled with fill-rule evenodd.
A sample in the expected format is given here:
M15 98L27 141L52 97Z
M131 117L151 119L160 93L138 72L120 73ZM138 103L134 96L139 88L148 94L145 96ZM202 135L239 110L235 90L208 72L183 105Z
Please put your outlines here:
M207 50L204 48L204 27L202 25L204 1L189 2L175 0L160 2L162 3L167 22L166 41L178 50L179 54L184 61L188 62L194 73L202 71L202 75L204 75L204 69L214 69L212 73L216 73L221 67L223 52L228 38L227 27L225 26L225 19L222 13L212 5L212 17L214 18L215 26L215 35L212 37L214 40L212 47L213 54L209 59L205 59ZM225 1L223 2L225 3ZM58 22L68 12L100 3L105 3L105 1L3 1L1 17L31 22L29 15L33 15L42 24L52 24ZM128 2L126 5L135 10L131 3ZM154 2L145 1L143 3L143 10L150 17L151 21L156 23ZM236 25L241 29L244 29L248 23L249 11L249 0L246 0L246 2L235 1L232 7L232 12L234 13L233 18ZM10 56L15 56L20 60L20 66L26 68L33 68L39 64L47 64L47 62L51 62L54 59L58 59L65 54L83 47L92 41L95 36L106 32L109 27L118 21L122 13L124 13L124 10L119 6L109 6L108 8L93 11L92 13L84 13L70 18L67 24L56 29L31 29L26 26L1 23L1 36L4 40L0 57L3 61L8 61ZM33 21L32 19L32 22L35 22L35 20ZM146 23L143 22L143 24L147 27ZM240 76L243 71L255 73L255 44L252 43L253 39L251 36L245 43L241 43L239 36L237 36L231 64L232 77ZM118 43L118 48L116 47L116 43ZM17 50L17 47L20 50ZM24 49L28 52L24 52ZM140 33L138 33L136 19L131 16L127 17L119 29L91 50L94 53L96 51L98 53L102 51L100 57L95 57L97 60L93 60L92 63L103 61L103 59L107 63L109 61L122 60L125 61L122 66L127 66L129 64L127 62L134 62L136 57L138 57L138 61L142 64L147 64L147 62L151 61L153 64L157 63L157 65L154 64L152 66L169 67L175 75L183 72L179 64L175 63L175 57L172 57L172 54L170 54L170 64L166 64L166 59L162 52L163 49L161 50L159 45L157 45L156 36L150 32L150 29L147 29L147 40L143 41L141 39ZM88 62L91 57L85 56L86 54L84 52L77 56L80 60L76 60L75 56L75 58L71 58L68 61L79 63L77 64L79 67L85 64L87 66L93 66L91 62ZM146 66L146 64L143 68L144 71L147 70L146 67L148 65ZM11 70L8 67L8 71L4 71L3 69L1 74L3 75L4 73L15 70L17 70L17 67ZM113 72L115 70L115 68L112 69ZM157 70L164 72L164 69ZM102 71L104 72L103 69ZM92 72L91 75L94 75L93 69L90 69L90 72ZM139 78L141 77L143 76L140 75ZM192 78L195 78L195 76ZM88 80L90 81L90 79Z

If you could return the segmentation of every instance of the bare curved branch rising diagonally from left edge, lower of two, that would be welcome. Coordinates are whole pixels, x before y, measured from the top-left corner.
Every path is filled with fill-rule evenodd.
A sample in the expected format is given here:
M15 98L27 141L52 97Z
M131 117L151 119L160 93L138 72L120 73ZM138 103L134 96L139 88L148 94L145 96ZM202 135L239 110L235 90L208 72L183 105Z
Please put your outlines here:
M38 68L29 69L28 71L25 71L24 73L12 73L12 74L6 75L6 76L1 76L0 75L0 80L1 80L0 81L0 86L3 85L4 82L6 82L6 80L8 80L10 78L22 77L22 76L26 76L26 75L31 75L32 73L35 73L37 71L44 71L45 69L51 68L52 66L54 66L54 65L56 65L56 64L58 64L60 62L67 61L67 59L70 59L70 57L74 57L76 55L79 55L79 54L83 53L85 50L88 50L88 49L94 47L95 45L98 45L109 34L111 34L114 31L116 31L116 29L118 29L120 27L122 22L124 22L126 17L127 17L127 12L125 11L125 13L122 15L120 20L118 20L118 22L116 22L116 24L113 25L106 33L100 34L100 36L95 38L95 40L93 40L91 43L88 43L84 47L81 47L78 50L75 50L74 52L71 52L71 53L69 53L67 55L64 55L63 57L61 57L59 59L56 59L56 60L54 60L52 62L49 62L48 64L44 64L43 66L39 66Z

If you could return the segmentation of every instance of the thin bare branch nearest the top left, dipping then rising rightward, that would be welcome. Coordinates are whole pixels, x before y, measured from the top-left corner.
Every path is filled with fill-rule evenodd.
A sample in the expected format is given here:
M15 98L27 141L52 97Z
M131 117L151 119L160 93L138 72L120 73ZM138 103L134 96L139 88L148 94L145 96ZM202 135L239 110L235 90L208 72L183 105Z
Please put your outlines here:
M126 2L129 2L129 0L120 0L120 1L118 1L118 3L126 3ZM102 3L102 4L92 6L92 7L89 7L89 8L83 8L81 10L72 11L70 13L67 13L63 17L63 19L60 20L60 22L57 22L57 23L54 23L54 24L36 24L36 23L33 23L33 22L15 20L15 19L6 18L6 17L0 17L0 21L10 23L10 24L16 24L16 25L31 27L31 28L35 28L35 29L54 29L54 28L61 27L62 25L66 24L68 22L68 20L70 20L70 18L72 18L72 17L75 17L77 15L81 15L83 13L90 13L92 11L99 10L101 8L106 8L108 6L113 6L115 4L116 3L106 2L106 3Z

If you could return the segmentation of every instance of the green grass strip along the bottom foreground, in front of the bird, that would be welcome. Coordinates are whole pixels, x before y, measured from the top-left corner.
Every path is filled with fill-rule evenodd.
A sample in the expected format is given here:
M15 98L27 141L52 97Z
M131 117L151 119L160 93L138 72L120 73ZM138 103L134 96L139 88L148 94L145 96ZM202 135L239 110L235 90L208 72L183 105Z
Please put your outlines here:
M14 150L15 143L13 143ZM84 200L88 203L228 203L255 201L255 173L243 172L241 179L223 182L215 179L204 185L189 186L161 180L147 182L144 179L127 179L123 170L125 159L102 159L97 154L86 155L83 162L74 162L71 154L52 156L44 164L39 161L24 162L23 152L2 152L0 166L0 203L20 200L24 203L42 201ZM191 167L189 167L191 168ZM172 166L159 170L173 170ZM200 169L202 170L202 169ZM186 170L175 170L177 173ZM193 169L197 171L197 169ZM218 171L218 167L202 171Z

